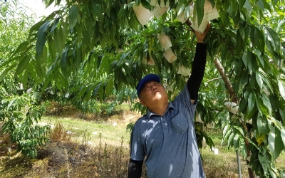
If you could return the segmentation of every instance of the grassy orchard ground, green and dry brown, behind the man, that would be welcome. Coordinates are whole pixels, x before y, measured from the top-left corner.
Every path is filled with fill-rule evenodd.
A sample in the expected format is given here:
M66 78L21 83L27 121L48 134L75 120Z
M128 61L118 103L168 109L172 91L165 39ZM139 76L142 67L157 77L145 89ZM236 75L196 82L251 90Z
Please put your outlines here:
M130 132L126 127L140 114L121 108L115 113L83 115L69 108L42 117L39 125L52 126L51 142L38 148L37 159L23 157L6 135L0 135L0 177L127 177ZM221 145L222 132L207 130L207 134L219 149L218 155L209 147L201 150L207 177L239 177L236 152ZM245 160L240 161L242 177L248 177ZM276 164L284 167L284 154Z

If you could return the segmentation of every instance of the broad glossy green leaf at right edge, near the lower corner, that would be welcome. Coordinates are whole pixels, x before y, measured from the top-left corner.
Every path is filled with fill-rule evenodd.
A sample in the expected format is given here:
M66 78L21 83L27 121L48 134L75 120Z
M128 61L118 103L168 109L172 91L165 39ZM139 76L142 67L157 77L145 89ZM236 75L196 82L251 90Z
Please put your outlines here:
M277 127L273 127L268 136L269 150L274 157L274 160L279 157L282 150L284 150L284 142L281 138L281 132Z

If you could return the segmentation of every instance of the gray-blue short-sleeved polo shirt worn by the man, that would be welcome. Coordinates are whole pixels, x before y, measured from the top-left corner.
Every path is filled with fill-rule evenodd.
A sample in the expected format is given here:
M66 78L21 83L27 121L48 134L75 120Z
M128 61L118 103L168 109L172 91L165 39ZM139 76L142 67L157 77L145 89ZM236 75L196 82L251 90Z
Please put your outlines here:
M148 110L135 122L130 158L145 159L147 177L205 177L193 121L196 103L185 86L164 115Z

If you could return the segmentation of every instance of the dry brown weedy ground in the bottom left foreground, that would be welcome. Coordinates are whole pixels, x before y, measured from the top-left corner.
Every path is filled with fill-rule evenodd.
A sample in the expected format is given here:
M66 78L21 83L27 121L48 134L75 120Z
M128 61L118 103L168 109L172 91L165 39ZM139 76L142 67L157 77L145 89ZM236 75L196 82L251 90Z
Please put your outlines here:
M120 148L91 148L73 142L48 142L30 159L16 152L16 145L1 135L0 177L125 177L128 152ZM6 146L5 146L6 145ZM11 146L11 152L7 147ZM115 167L109 170L109 167ZM120 168L120 169L119 169Z

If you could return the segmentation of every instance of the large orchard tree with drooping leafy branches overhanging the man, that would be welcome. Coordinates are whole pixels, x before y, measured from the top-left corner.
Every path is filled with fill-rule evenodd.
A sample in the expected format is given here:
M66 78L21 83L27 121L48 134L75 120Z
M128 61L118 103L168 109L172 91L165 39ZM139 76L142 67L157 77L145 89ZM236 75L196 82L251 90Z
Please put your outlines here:
M115 95L141 109L130 88L147 73L160 75L171 99L185 85L189 70L184 67L190 68L195 55L195 35L180 19L196 11L202 23L205 1L194 1L193 10L189 0L157 0L158 7L169 8L141 24L135 7L153 12L153 2L67 0L31 27L5 64L16 68L14 78L24 86L33 80L42 92L51 87L77 103ZM211 21L205 39L209 55L197 118L204 125L222 125L223 142L246 157L250 177L285 177L274 166L285 148L285 3L209 2L219 18ZM59 6L61 0L45 3ZM171 63L164 56L162 34L169 36L177 58ZM1 71L1 78L7 71Z

